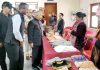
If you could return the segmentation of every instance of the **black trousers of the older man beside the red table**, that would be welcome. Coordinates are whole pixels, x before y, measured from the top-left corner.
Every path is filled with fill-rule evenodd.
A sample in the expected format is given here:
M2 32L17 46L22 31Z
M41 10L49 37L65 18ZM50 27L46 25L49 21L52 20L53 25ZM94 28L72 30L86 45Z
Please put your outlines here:
M41 60L42 60L42 49L43 46L34 46L32 48L32 66L38 66L39 64L41 64Z

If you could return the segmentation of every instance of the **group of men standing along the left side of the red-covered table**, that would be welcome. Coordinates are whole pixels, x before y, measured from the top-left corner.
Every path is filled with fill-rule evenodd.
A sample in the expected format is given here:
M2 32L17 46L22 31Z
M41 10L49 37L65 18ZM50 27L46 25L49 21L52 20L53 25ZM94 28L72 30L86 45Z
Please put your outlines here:
M34 70L39 70L37 66L41 66L42 59L42 29L41 22L42 12L35 11L32 14L26 15L28 4L20 3L16 13L11 14L12 4L3 2L2 11L0 13L0 65L2 70L7 70L6 52L9 58L9 70L23 70L24 67L24 52L23 43L24 35L27 37L27 43L32 48L32 67ZM32 12L32 11L30 11ZM29 20L25 22L24 15ZM25 45L29 47L28 45Z

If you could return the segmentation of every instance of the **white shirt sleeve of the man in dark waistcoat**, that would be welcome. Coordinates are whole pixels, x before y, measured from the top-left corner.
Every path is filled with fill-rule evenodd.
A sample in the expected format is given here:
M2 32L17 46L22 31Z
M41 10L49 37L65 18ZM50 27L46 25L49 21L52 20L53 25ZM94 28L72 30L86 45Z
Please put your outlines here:
M18 41L23 41L22 35L20 33L21 26L21 17L19 14L16 14L12 17L13 22L13 34Z

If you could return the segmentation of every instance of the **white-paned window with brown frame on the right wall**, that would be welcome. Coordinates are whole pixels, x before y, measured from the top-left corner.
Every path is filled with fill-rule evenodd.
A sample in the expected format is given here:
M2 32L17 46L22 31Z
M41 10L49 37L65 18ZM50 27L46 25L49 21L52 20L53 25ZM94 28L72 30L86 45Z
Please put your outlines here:
M99 28L100 16L97 16L97 9L100 8L100 3L91 4L90 27Z

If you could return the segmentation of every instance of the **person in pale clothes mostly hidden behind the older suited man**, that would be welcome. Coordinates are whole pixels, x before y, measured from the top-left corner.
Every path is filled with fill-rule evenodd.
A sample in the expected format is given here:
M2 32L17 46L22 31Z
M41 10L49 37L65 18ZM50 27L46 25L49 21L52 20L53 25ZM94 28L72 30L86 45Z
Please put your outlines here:
M31 21L33 19L32 17L32 10L29 9L25 15L25 33L24 33L24 52L25 52L25 56L26 59L29 60L32 54L32 49L28 43L28 37L27 37L27 27L28 27L28 23L29 21Z

